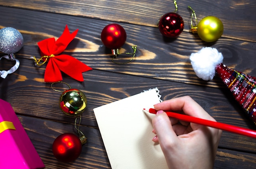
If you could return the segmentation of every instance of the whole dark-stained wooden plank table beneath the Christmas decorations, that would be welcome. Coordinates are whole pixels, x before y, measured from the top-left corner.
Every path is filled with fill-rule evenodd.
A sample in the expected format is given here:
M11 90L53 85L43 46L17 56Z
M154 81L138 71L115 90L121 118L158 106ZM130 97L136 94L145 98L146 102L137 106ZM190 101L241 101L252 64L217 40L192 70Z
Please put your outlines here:
M11 103L47 169L111 168L93 108L149 88L159 88L163 100L189 95L217 121L256 129L222 81L199 79L189 61L191 53L211 46L222 52L224 64L256 76L256 1L178 0L177 4L184 31L168 39L159 33L157 21L164 13L174 11L171 0L0 0L0 27L16 28L24 37L24 46L17 53L20 67L0 79L0 98ZM222 20L224 33L217 42L203 42L189 32L188 5L198 20L209 15ZM113 64L111 51L101 42L101 31L110 23L119 23L126 30L127 40L121 51L137 45L137 56L129 64ZM35 66L30 59L40 57L37 42L59 37L66 24L71 32L79 32L64 53L93 68L83 73L84 82L63 75L63 81L88 98L80 127L88 142L80 157L70 163L54 158L52 143L60 134L76 132L74 118L61 112L61 93L44 82L46 65ZM3 59L0 70L12 64ZM255 139L223 132L214 168L256 168L255 150Z

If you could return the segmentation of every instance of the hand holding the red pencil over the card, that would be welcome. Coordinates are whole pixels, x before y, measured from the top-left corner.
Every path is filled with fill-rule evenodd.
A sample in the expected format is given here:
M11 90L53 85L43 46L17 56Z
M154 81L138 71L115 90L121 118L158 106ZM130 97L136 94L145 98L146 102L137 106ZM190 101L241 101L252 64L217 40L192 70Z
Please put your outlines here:
M159 142L170 169L211 169L222 131L169 118L164 111L215 121L191 97L180 97L154 105L153 141Z

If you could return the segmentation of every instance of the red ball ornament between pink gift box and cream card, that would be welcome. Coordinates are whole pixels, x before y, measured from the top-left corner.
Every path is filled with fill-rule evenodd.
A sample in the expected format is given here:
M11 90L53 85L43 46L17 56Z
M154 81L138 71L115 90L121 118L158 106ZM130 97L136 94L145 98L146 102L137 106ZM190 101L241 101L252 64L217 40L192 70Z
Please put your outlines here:
M72 133L64 133L58 136L52 144L52 152L57 160L71 162L79 157L82 151L82 143L78 136Z

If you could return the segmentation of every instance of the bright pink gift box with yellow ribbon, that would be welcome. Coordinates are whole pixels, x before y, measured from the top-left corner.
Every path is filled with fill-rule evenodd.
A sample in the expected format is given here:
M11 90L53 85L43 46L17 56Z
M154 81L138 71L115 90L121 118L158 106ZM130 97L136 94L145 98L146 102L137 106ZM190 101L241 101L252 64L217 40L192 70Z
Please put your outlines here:
M0 99L0 169L43 168L45 165L10 103Z

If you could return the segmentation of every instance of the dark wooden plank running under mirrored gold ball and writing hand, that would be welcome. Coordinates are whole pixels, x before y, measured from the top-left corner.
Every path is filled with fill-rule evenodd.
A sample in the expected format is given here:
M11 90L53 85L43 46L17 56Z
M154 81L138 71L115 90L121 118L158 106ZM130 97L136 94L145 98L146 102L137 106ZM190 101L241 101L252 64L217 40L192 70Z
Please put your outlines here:
M44 70L33 68L28 59L20 61L22 66L16 73L9 75L7 79L0 79L0 88L5 89L0 91L1 98L10 102L18 114L74 123L75 119L64 115L58 107L61 92L54 91L50 83L43 83ZM63 77L63 81L72 88L82 90L88 98L88 108L82 116L83 125L97 127L93 108L157 87L164 100L189 95L217 121L255 129L227 89L205 88L99 70L83 73L83 83L65 75ZM58 88L65 90L67 86L61 84ZM252 146L248 146L248 143ZM222 147L250 152L254 151L255 145L255 139L227 132L223 133L220 142Z

